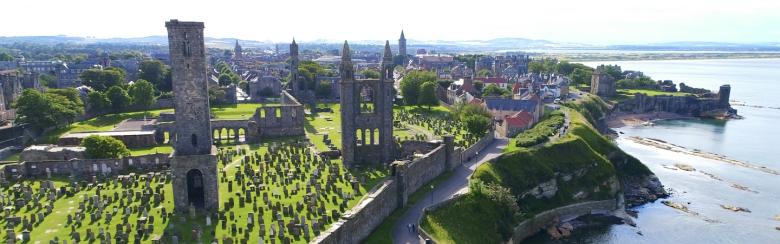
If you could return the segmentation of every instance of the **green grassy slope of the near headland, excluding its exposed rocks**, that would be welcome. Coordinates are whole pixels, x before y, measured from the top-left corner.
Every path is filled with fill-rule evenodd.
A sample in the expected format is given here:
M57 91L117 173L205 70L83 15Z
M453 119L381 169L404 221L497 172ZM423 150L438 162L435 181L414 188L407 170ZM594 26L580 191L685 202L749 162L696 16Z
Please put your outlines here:
M588 123L589 119L603 115L603 101L590 98L576 105L573 107L584 111L585 115L573 111L570 113L571 131L564 138L538 149L517 148L507 152L495 161L481 165L473 177L508 187L514 195L557 178L559 190L551 199L536 199L532 196L519 199L521 216L528 218L541 211L574 202L611 198L613 196L610 192L616 189L609 189L604 182L617 175L651 173ZM613 160L608 160L609 155L612 155ZM617 166L612 162L618 162ZM561 175L583 168L587 170L582 177L575 177L568 182L561 179ZM556 175L556 172L559 174ZM588 193L588 196L585 199L573 199L572 196L580 191ZM447 243L501 242L500 228L495 227L495 223L502 217L492 216L489 211L495 208L494 205L488 199L469 194L427 214L423 218L422 227L437 240Z

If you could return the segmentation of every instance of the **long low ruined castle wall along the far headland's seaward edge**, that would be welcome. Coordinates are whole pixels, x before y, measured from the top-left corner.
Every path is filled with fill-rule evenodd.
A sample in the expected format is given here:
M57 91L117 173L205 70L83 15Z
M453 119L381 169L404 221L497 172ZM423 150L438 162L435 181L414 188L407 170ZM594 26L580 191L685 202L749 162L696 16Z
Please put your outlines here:
M617 110L620 112L670 112L693 116L699 116L713 110L729 108L728 104L722 105L717 98L698 98L695 96L647 96L642 93L635 94L634 99L617 104Z

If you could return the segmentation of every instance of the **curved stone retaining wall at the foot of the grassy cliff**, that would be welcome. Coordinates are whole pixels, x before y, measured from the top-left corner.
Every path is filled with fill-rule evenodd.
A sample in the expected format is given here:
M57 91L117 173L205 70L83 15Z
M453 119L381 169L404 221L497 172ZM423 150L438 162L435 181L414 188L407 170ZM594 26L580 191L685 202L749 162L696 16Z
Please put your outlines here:
M613 211L615 209L617 209L616 199L581 202L550 209L536 214L533 218L520 222L520 224L515 226L512 238L507 243L520 243L525 240L525 238L535 235L556 219L561 219L563 217L576 218L597 212Z

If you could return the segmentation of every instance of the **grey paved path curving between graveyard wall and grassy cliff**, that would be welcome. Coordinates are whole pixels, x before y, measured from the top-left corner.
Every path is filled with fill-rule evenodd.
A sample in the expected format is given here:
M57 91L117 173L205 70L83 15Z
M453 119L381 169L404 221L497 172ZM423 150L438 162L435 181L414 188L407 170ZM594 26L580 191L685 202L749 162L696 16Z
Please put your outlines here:
M410 233L406 226L410 223L417 224L417 220L422 216L423 208L450 199L456 193L468 191L471 173L477 166L501 155L501 151L504 150L508 142L509 140L506 138L496 138L493 143L479 152L476 159L456 167L449 179L434 186L431 192L420 198L416 204L409 206L406 213L393 227L393 243L421 243L422 240L417 233Z

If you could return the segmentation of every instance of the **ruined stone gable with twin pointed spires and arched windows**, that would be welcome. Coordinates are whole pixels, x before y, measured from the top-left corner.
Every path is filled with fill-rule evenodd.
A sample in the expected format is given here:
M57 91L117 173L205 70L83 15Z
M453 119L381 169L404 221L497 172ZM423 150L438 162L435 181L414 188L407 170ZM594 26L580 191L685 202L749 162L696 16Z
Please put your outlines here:
M393 54L385 42L379 79L355 80L349 45L341 55L341 149L347 166L388 164L393 138Z

